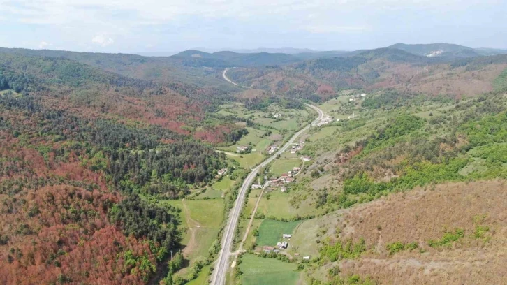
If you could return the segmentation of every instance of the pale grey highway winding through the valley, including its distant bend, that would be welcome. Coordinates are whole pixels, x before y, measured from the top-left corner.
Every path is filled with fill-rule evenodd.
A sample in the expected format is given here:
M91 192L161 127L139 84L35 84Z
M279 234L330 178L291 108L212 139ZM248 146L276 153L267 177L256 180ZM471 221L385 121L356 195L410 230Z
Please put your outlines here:
M228 68L226 68L226 70L223 71L223 74L222 74L223 78L225 80L227 80L228 82L231 82L234 85L237 85L236 83L230 81L227 78L227 76L226 76L227 69ZM223 285L226 283L226 272L228 269L229 257L231 254L230 250L233 247L234 233L236 230L237 221L239 221L239 219L240 219L240 213L241 213L242 207L244 205L244 198L247 195L249 185L257 177L257 173L258 173L259 169L267 166L267 164L269 164L271 161L276 159L278 154L282 154L283 152L285 152L288 149L288 147L290 147L291 144L297 139L297 137L301 136L301 134L304 131L307 131L307 129L309 129L310 126L318 124L318 122L320 122L321 119L323 119L323 117L325 116L323 110L317 108L316 106L309 105L309 104L305 104L305 105L307 105L307 107L314 109L314 110L316 110L316 112L318 112L317 119L315 119L314 122L311 122L311 124L309 124L308 126L305 126L303 129L301 129L300 131L295 133L294 136L292 136L291 139L288 140L288 142L286 142L286 144L278 150L278 152L274 153L272 156L267 158L265 161L263 161L263 163L260 163L258 166L256 166L256 168L253 168L251 170L251 173L244 180L240 191L237 193L237 199L234 203L233 209L230 210L227 225L223 230L223 238L222 238L222 244L221 244L222 248L219 252L219 257L218 257L217 263L215 265L215 269L213 270L212 284Z

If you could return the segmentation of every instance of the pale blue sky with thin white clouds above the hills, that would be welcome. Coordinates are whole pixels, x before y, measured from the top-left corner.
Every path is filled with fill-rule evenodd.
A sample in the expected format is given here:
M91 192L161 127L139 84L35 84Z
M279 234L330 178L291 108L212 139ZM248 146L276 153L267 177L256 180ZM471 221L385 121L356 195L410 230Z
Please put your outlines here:
M82 52L394 43L507 49L507 0L0 0L0 46Z

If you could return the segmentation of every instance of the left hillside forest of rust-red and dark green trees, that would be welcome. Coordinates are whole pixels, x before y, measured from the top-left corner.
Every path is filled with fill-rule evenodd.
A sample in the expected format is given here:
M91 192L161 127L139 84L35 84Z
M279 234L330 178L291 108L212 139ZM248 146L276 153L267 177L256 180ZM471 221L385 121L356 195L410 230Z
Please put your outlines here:
M177 199L242 127L209 90L0 52L0 283L141 284L182 240Z

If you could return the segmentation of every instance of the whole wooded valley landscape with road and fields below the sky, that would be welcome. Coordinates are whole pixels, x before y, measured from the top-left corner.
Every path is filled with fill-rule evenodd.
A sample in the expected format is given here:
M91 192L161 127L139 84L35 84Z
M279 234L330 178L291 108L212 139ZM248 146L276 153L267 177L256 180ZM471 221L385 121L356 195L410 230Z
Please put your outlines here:
M481 52L1 48L1 283L501 283Z

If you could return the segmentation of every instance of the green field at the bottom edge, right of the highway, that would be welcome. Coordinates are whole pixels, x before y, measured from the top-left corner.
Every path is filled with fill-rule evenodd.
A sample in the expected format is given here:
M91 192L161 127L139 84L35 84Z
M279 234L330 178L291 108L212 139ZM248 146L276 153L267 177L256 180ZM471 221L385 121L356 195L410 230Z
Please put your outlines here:
M295 269L295 263L284 263L275 258L262 258L254 254L245 254L240 264L240 270L243 272L241 284L296 284L297 280L300 279L300 272L296 272Z

